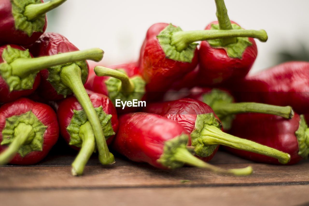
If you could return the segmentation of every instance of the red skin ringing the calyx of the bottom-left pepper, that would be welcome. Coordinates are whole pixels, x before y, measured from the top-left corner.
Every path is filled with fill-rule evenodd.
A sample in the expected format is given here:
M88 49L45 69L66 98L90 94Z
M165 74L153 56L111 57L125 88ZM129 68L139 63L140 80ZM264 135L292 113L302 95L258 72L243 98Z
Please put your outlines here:
M41 161L49 152L49 150L56 144L59 136L59 126L57 116L54 110L45 104L34 102L27 98L19 98L10 103L6 103L0 108L0 142L2 142L2 130L6 125L6 118L15 115L21 115L28 111L32 111L33 114L47 126L44 132L44 140L42 151L32 151L21 157L19 153L10 161L11 164L16 165L32 165ZM7 146L0 145L0 150L6 149Z

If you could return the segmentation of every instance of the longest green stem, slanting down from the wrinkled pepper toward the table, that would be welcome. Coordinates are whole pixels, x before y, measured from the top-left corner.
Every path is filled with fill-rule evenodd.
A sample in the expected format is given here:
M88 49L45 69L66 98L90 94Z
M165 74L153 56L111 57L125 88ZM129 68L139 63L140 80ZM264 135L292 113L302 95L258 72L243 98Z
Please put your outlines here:
M73 91L75 97L87 115L88 121L90 122L95 135L95 141L99 151L99 161L103 165L114 163L115 158L113 154L108 151L106 139L104 137L99 118L83 86L80 67L74 63L69 66L62 67L60 78L62 83Z

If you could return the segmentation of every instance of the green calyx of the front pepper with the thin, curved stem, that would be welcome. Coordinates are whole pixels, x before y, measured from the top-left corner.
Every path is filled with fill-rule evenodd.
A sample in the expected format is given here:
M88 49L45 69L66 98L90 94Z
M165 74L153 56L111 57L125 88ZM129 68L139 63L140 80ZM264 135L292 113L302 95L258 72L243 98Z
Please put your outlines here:
M186 149L187 144L188 135L185 134L166 141L163 146L163 153L157 161L172 170L182 167L184 162L177 161L174 155L179 148Z

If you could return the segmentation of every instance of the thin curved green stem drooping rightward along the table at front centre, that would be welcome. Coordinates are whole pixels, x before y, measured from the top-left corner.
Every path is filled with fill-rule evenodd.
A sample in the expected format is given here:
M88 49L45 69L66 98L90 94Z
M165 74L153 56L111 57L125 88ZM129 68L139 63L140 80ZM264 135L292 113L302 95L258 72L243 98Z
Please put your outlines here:
M241 169L230 169L224 170L222 168L216 167L209 163L206 163L199 158L193 156L186 148L177 148L174 156L176 161L184 162L188 165L204 168L210 171L213 171L218 174L231 174L237 176L249 175L252 174L253 170L251 166L241 168Z

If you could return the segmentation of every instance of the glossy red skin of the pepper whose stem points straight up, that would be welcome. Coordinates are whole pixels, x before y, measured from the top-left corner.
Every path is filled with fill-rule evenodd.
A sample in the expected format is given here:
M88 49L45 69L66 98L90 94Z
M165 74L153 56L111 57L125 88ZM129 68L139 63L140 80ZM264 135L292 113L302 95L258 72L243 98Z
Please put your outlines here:
M236 24L233 21L231 23ZM218 24L218 21L208 24L205 30L210 30L211 24ZM241 59L231 58L226 54L225 49L213 48L207 41L202 41L198 51L200 69L196 76L197 86L219 85L243 78L251 69L257 56L254 39L248 39L252 45L247 46Z

